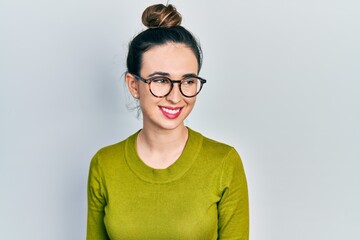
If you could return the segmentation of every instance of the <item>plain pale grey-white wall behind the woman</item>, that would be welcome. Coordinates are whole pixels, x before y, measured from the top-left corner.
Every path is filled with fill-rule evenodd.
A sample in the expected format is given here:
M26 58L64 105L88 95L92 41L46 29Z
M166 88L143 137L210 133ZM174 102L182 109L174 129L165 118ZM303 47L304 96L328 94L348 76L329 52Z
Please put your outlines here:
M1 0L0 239L85 238L91 157L141 127L122 74L152 3ZM171 3L208 79L186 123L241 154L251 239L360 239L360 2Z

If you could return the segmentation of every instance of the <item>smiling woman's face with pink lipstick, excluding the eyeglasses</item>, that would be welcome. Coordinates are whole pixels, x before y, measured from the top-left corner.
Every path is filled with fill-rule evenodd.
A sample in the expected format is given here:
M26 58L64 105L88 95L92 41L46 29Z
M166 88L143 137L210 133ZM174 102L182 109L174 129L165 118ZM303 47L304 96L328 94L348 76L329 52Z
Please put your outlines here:
M140 70L142 78L166 76L172 80L180 80L186 75L197 73L197 59L184 44L167 43L153 47L143 54ZM184 119L193 109L196 97L184 97L177 83L170 94L163 98L154 97L149 91L148 84L142 81L135 80L132 85L136 88L135 94L140 101L144 128L172 130L184 126Z

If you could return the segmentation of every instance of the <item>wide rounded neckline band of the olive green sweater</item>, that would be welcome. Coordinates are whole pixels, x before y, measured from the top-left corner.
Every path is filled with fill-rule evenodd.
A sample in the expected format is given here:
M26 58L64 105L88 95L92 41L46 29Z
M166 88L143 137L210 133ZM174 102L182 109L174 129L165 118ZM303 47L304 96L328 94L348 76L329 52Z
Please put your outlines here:
M181 178L197 158L203 137L200 133L188 128L188 139L180 157L165 169L155 169L146 165L136 150L136 139L140 130L126 140L125 158L133 173L143 181L150 183L167 183Z

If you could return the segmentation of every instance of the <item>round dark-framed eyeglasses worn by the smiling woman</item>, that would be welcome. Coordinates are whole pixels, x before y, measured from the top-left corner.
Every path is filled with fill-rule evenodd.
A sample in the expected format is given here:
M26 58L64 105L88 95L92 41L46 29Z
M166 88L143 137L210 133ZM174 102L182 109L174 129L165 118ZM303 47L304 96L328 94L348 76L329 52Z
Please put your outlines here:
M195 97L199 94L206 80L196 75L189 75L181 80L171 80L164 76L155 76L148 79L132 74L138 80L147 83L154 97L163 98L170 94L174 83L179 84L179 90L184 97Z

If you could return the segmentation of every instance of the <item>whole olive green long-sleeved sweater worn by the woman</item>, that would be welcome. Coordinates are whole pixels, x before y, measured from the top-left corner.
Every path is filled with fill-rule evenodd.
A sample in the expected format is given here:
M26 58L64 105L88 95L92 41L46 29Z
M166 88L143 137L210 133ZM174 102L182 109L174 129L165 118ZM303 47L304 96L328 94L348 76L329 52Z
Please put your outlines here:
M189 129L179 159L153 169L137 134L90 164L87 239L249 239L246 178L236 150Z

